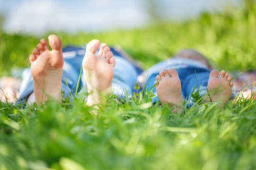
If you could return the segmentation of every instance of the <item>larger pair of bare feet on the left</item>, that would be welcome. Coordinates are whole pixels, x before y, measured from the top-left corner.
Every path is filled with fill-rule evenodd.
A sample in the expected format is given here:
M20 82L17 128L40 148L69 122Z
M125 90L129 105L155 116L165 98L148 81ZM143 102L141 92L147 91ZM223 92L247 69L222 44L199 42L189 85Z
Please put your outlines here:
M64 65L62 43L56 35L48 37L52 51L49 51L46 39L41 39L29 56L31 73L34 81L35 101L38 105L53 98L61 102L61 78ZM100 46L99 40L87 44L82 61L83 74L87 84L87 104L100 103L102 94L111 92L113 68L116 64L113 54L106 43L101 44L99 53L95 52Z

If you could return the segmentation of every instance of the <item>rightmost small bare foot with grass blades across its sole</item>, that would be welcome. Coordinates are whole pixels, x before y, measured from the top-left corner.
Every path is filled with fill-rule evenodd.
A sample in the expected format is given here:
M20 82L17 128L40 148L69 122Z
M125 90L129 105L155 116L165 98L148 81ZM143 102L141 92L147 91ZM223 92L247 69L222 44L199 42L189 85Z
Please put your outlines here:
M210 77L208 81L208 91L210 92L210 100L212 102L219 101L219 106L223 107L224 103L229 101L230 95L232 93L231 89L233 83L230 82L231 77L226 71L222 70L219 74L218 70L212 70L210 72ZM206 100L209 101L209 97L206 97Z

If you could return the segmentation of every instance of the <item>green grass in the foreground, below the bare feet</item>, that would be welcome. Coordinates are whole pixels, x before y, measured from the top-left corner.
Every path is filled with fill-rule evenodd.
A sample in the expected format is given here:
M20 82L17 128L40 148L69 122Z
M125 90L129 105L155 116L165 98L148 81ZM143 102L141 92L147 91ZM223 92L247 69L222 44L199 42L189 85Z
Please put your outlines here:
M23 110L0 102L0 169L256 168L256 100L175 113L110 97L100 108L81 99L72 109L54 101Z

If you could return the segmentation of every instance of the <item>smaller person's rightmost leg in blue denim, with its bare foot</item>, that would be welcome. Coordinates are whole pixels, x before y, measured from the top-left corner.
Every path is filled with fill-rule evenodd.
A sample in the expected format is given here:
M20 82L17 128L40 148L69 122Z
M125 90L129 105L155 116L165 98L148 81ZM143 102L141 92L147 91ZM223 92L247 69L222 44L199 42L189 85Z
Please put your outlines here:
M199 91L199 96L210 92L209 95L204 97L203 101L219 102L220 107L224 106L224 103L228 102L230 98L233 85L233 83L230 82L231 77L229 77L229 74L224 70L221 71L220 75L217 70L210 72L208 70L196 69L195 71L195 74L192 74L193 71L189 71L189 68L180 71L181 75L187 75L182 81L183 93L187 99L190 102L194 101L192 93L197 91Z

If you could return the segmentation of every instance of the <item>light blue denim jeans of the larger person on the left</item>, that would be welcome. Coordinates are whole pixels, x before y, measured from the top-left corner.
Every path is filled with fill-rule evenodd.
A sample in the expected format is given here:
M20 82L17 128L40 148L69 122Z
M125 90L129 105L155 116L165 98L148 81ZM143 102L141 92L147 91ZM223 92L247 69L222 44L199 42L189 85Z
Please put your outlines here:
M137 82L137 76L140 74L139 68L129 62L125 57L121 56L118 51L110 48L113 52L113 57L116 59L114 68L114 76L112 80L112 93L116 94L119 98L124 97L124 91L127 90L129 94L134 92L134 82ZM96 54L99 52L96 52ZM74 96L77 83L79 80L80 70L82 69L82 59L85 54L85 47L67 46L63 49L64 67L62 74L62 90L64 96ZM28 96L33 93L33 78L30 68L27 68L22 73L22 83L19 89L21 94L17 103L24 104ZM82 90L86 89L86 82L81 75L80 84L78 87L78 96Z

